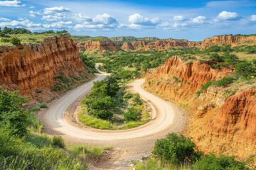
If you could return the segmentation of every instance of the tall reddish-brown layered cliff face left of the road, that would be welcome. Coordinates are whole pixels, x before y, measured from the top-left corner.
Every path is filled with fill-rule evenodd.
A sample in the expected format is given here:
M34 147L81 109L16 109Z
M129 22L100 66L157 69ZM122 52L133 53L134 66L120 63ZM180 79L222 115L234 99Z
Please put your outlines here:
M70 35L48 38L37 45L0 48L0 86L19 90L31 100L36 89L50 89L60 72L87 74Z

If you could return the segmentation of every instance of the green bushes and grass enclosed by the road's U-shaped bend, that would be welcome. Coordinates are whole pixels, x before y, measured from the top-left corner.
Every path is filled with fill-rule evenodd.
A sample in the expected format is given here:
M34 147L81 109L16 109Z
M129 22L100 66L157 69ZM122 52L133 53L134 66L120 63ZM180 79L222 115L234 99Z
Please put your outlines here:
M79 120L92 128L135 128L149 120L139 94L131 94L115 77L95 81L90 95L81 103Z

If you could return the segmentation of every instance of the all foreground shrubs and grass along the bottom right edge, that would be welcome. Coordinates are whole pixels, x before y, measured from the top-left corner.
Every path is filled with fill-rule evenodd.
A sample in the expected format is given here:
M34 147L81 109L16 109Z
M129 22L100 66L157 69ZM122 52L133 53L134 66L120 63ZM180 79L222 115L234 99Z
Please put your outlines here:
M135 162L137 170L162 169L255 169L253 157L238 161L234 156L203 154L195 143L183 135L169 134L166 139L157 140L153 155L144 162Z

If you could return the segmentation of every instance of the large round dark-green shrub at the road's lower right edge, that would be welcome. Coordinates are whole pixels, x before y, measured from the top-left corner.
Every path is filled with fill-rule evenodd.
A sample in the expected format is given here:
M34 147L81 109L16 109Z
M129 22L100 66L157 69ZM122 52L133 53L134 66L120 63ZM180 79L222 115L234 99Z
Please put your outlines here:
M166 139L156 141L152 153L171 164L184 164L185 162L195 162L200 157L195 148L196 144L191 141L191 138L171 133L167 135Z

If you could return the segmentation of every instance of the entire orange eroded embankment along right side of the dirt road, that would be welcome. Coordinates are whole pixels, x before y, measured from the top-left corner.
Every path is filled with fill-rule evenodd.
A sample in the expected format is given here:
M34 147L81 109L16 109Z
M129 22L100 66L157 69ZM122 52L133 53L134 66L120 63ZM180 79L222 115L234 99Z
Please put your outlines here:
M218 71L210 63L183 62L172 57L146 73L146 89L186 108L191 115L186 135L193 137L203 152L234 154L240 158L256 152L256 83L210 86L196 98L201 84L232 74ZM228 97L226 91L235 95Z

